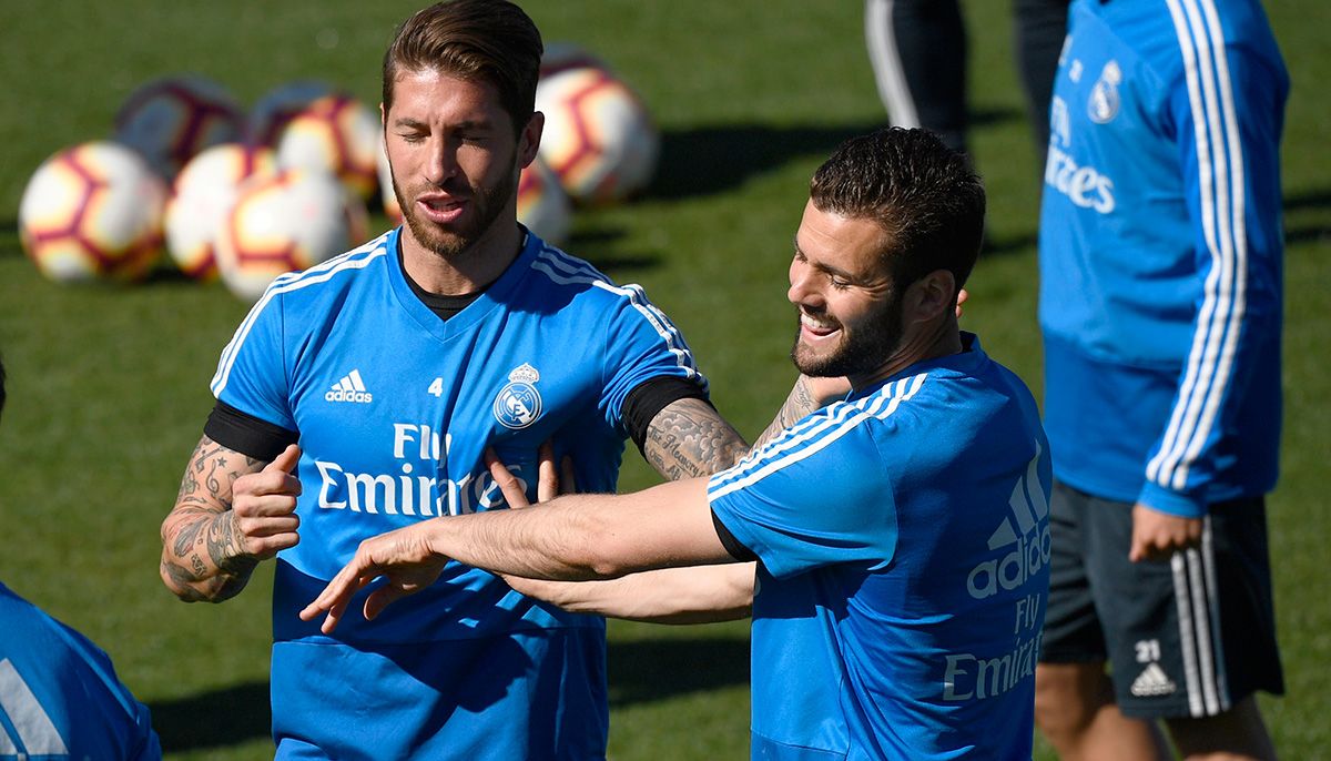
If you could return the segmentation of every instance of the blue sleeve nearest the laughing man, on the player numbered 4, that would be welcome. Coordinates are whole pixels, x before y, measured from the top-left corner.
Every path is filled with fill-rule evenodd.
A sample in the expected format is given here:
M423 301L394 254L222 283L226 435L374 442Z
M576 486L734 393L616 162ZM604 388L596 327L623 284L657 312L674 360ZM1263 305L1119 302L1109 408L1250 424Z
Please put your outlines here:
M619 431L626 431L623 407L628 394L646 380L660 377L684 378L704 391L707 379L697 370L693 353L683 334L656 309L642 286L615 289L620 298L604 315L606 363L600 411Z

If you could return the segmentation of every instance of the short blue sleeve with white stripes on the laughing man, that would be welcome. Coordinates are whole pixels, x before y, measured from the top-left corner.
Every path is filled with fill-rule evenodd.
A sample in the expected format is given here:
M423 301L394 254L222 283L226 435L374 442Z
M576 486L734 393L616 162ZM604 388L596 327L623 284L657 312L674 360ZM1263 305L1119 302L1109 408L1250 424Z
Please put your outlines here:
M881 569L896 551L890 475L865 415L824 412L708 482L717 520L776 577L836 563Z

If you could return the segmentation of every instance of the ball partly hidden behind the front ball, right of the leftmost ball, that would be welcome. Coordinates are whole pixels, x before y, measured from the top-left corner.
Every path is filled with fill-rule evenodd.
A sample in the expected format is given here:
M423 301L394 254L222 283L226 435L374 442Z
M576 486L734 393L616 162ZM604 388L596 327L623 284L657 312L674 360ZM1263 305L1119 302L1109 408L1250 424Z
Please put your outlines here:
M176 177L166 202L166 250L186 275L217 278L217 235L250 177L273 177L277 161L268 148L240 142L214 145L196 156Z

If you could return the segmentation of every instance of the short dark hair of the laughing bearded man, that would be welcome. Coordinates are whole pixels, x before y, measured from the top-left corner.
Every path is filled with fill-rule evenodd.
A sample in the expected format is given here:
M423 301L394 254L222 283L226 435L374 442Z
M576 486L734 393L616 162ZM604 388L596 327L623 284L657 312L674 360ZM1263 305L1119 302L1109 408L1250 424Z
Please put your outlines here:
M950 270L960 290L980 255L985 188L966 157L926 129L885 128L852 137L813 173L820 212L873 220L894 287Z

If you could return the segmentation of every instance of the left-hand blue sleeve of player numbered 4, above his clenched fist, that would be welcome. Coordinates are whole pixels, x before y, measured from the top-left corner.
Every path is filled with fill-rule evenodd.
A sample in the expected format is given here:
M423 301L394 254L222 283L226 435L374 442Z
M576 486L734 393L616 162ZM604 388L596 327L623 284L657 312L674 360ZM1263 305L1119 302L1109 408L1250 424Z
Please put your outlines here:
M270 286L222 350L212 390L218 400L294 431L285 338L282 295Z

